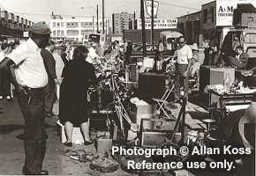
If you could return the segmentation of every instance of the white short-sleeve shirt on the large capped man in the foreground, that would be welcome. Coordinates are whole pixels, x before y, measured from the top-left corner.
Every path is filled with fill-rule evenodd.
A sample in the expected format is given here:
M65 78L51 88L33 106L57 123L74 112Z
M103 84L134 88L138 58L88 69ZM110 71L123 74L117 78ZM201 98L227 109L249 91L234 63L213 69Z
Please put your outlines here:
M41 57L41 49L28 39L7 55L16 65L15 76L22 86L41 88L48 83L47 72Z

